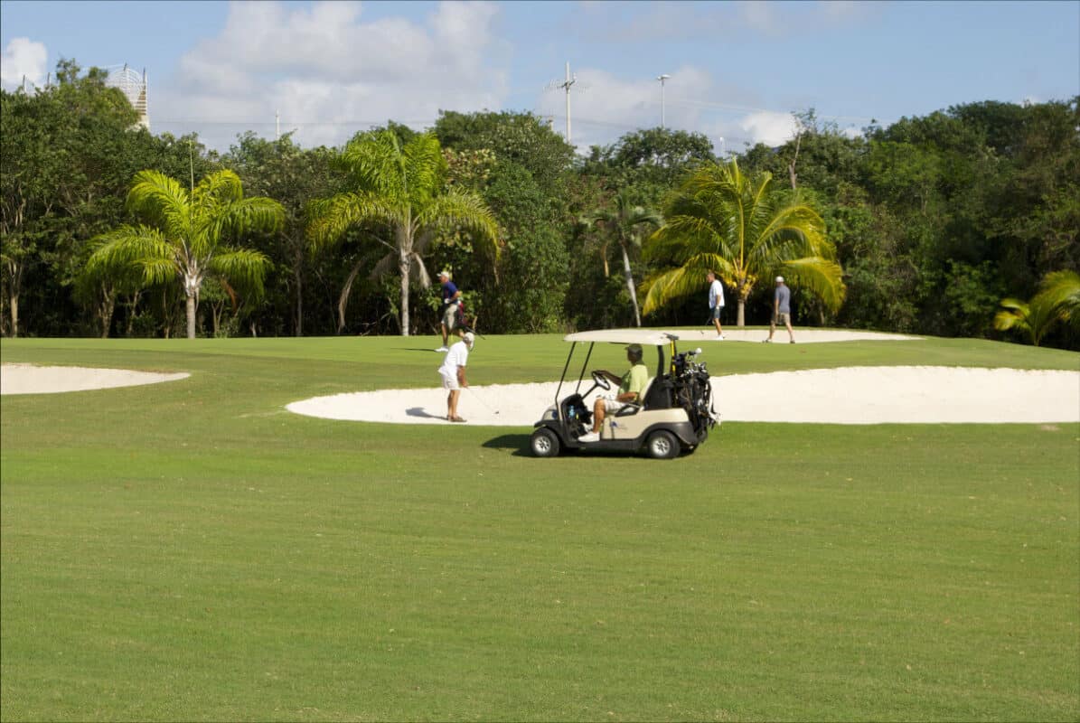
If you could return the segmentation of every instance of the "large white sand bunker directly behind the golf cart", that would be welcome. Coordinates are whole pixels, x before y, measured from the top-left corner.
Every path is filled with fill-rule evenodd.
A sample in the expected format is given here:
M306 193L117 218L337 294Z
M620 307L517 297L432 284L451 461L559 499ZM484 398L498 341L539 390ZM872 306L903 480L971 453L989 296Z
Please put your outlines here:
M553 403L557 387L470 387L461 392L458 411L469 424L531 427ZM725 421L1080 421L1080 372L855 366L714 376L713 389ZM562 396L569 392L564 387ZM448 424L446 392L438 388L316 397L286 409L330 419Z

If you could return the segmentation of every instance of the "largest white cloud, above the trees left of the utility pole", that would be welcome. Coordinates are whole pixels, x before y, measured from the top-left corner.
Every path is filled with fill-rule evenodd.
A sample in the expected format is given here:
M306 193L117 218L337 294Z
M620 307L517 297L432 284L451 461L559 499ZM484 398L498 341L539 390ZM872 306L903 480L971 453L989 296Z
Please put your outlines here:
M365 22L359 2L289 11L279 2L234 2L221 32L180 61L154 94L156 129L199 128L224 148L252 129L296 130L303 145L336 145L388 119L430 125L440 109L498 109L507 73L488 67L509 52L495 37L498 5L442 2L424 22ZM168 121L201 121L183 129ZM259 125L256 121L261 120Z

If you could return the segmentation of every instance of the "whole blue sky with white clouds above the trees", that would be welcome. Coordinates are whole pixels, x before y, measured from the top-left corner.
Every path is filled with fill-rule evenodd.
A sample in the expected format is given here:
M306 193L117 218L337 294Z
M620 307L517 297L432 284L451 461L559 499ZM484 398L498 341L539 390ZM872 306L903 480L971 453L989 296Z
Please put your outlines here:
M1080 1L35 2L0 0L2 82L60 57L146 68L154 132L226 149L282 131L336 145L440 109L527 110L585 149L660 124L717 151L789 137L792 112L856 133L978 101L1080 95ZM724 139L723 142L720 139Z

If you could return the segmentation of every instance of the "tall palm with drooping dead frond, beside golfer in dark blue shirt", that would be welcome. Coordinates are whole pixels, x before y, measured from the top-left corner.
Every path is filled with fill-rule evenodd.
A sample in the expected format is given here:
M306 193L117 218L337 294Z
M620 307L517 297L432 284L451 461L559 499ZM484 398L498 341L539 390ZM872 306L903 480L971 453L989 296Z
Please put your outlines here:
M342 151L340 162L355 190L316 201L310 207L308 239L313 249L339 242L350 228L373 225L381 232L376 241L388 253L376 264L373 277L396 269L401 279L401 330L409 334L408 289L410 277L423 289L431 279L422 254L440 231L467 229L498 253L497 229L491 211L475 193L458 189L443 191L445 163L438 139L420 134L404 147L392 131L362 136ZM338 300L338 331L345 326L345 305L363 259L350 272Z

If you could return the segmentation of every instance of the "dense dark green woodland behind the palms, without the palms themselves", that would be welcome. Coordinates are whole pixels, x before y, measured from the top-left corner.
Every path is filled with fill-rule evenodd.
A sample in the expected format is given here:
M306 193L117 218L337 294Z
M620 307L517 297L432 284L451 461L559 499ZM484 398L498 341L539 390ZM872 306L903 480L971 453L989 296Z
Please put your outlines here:
M229 169L245 193L272 198L286 211L278 232L229 239L269 259L265 294L245 294L229 279L208 282L199 334L401 333L406 318L414 333L437 325L437 299L422 275L409 276L411 262L405 276L379 266L388 251L384 219L353 219L335 243L318 242L312 231L312 202L360 188L355 166L342 163L350 146L305 149L287 135L266 140L248 133L228 152L207 151L195 137L131 130L132 109L104 85L99 70L84 73L63 61L56 75L57 84L44 91L0 96L5 336L174 336L183 329L179 283L146 285L120 275L109 297L99 279L84 276L93 238L140 220L124 199L144 170L194 186ZM1031 340L1023 325L999 332L994 320L1001 299L1029 299L1048 275L1080 269L1078 98L960 105L872 125L859 137L820 122L812 110L799 120L792 142L746 148L735 158L755 184L771 177L770 203L812 210L835 249L843 303L837 307L812 280L796 279L797 324ZM403 148L417 136L394 122L383 130ZM661 129L578 157L538 118L517 112L444 112L429 132L423 137L437 139L442 152L432 166L432 198L453 190L481 199L497 224L498 253L486 253L489 243L468 228L444 226L424 237L417 258L429 273L451 269L470 316L494 333L635 323L635 297L671 270L673 255L643 254L626 242L632 237L582 220L617 217L620 209L671 211L694 170L730 160L717 159L704 136ZM377 136L361 133L351 147ZM617 253L622 273L609 268ZM718 266L739 298L738 275ZM769 285L742 290L748 290L746 323L760 323ZM702 279L698 294L669 295L643 321L701 323L703 293ZM1050 314L1040 343L1080 348L1076 324L1061 321Z

